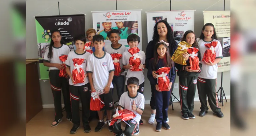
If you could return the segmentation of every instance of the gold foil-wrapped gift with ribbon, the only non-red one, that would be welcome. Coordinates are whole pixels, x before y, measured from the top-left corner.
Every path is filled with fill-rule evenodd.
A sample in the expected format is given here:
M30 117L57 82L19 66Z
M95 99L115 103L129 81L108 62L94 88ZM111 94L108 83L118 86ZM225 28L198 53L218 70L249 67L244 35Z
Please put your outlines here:
M186 41L182 41L178 44L178 48L172 55L173 62L180 65L187 65L185 58L182 56L182 53L187 52L187 49L191 47Z

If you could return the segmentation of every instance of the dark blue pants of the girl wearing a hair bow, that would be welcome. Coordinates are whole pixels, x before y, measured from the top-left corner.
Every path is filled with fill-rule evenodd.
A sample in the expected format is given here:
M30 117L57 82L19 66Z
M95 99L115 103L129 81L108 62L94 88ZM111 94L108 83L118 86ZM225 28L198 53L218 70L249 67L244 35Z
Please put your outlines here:
M156 122L159 124L167 121L170 93L171 91L159 92L155 90Z

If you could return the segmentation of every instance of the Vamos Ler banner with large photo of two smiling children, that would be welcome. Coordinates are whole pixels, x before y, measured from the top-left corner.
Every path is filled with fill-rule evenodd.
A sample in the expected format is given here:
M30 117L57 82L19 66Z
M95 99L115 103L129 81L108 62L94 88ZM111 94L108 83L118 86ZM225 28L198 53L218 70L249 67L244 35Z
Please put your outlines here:
M127 37L137 34L140 37L139 49L142 50L141 10L97 11L93 13L93 28L104 37L105 46L111 45L108 32L112 29L120 30L118 43L130 48Z

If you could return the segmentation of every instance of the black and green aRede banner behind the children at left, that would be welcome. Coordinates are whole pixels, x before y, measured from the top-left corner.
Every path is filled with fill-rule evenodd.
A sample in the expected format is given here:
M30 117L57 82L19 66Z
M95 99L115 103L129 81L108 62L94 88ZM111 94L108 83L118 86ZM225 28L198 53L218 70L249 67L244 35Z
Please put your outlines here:
M40 68L40 80L49 79L49 67L43 65L43 57L46 46L51 41L51 31L58 29L61 32L62 41L68 45L70 51L76 50L73 37L79 34L85 35L85 14L35 17L37 32L37 46Z

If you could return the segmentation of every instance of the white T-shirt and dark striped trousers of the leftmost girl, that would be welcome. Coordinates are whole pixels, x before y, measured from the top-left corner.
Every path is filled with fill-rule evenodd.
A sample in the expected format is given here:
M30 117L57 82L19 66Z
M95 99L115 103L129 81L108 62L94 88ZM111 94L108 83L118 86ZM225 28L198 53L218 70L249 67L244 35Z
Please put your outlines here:
M60 47L52 47L53 57L48 58L49 46L46 47L46 51L44 53L43 61L49 63L58 63L62 64L59 59L59 56L68 55L70 49L67 45L61 45ZM63 95L63 102L65 105L65 109L67 112L67 118L72 118L71 113L71 105L70 105L70 97L69 97L69 83L65 77L59 77L60 70L56 67L49 67L49 80L51 84L53 100L54 100L54 109L55 109L55 119L61 119L63 117L62 107L61 107L61 90Z

